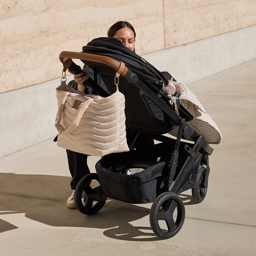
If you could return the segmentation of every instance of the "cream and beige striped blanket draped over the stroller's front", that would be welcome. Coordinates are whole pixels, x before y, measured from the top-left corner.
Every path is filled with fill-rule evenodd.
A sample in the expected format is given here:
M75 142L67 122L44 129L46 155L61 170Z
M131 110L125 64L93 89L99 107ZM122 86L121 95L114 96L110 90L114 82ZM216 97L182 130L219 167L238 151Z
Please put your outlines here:
M220 130L212 118L206 113L204 107L194 93L182 83L173 83L176 87L176 92L180 94L180 105L194 117L192 121L188 121L188 125L198 134L204 135L207 143L219 144L222 140ZM177 137L178 127L170 131L169 134Z

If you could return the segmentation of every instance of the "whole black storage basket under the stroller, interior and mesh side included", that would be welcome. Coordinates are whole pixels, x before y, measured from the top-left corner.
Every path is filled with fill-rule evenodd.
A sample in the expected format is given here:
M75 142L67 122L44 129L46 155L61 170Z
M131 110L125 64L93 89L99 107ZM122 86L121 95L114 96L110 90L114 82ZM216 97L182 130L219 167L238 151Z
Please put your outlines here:
M104 194L109 198L132 204L153 202L157 196L166 191L165 185L169 161L160 160L157 164L150 164L152 162L150 159L154 161L154 158L157 158L159 153L162 155L161 158L165 159L165 157L171 154L174 142L175 140L171 140L168 143L152 145L143 151L133 150L102 157L96 163L95 168ZM181 142L181 144L183 145L181 148L184 148L185 143ZM187 154L185 150L180 150L179 159L181 160L178 162L179 165L182 166L184 164ZM187 171L182 187L179 188L180 191L184 187L187 190L194 186L194 177L199 167L201 156L202 154L198 153L195 161ZM120 170L120 167L127 171L129 168L139 168L143 167L143 165L147 168L143 168L144 170L141 172L131 175L127 175Z

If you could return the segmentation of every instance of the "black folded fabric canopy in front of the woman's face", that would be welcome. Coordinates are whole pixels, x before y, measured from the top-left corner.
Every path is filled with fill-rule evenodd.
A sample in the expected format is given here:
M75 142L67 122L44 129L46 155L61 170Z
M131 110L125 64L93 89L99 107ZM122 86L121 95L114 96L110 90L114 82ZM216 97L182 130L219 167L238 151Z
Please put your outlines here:
M125 66L132 72L136 73L137 77L141 80L156 83L164 82L165 86L168 84L168 79L160 71L123 45L123 43L117 38L95 38L86 46L83 46L82 49L82 52L85 53L107 56L124 62Z

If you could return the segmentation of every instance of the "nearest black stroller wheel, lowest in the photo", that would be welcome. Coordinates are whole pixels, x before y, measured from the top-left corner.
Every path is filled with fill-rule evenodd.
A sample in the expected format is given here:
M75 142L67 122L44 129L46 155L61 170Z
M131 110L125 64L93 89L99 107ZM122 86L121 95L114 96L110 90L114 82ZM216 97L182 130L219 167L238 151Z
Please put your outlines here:
M176 220L173 215L175 210L177 211ZM165 223L161 223L161 227L160 220L165 221ZM182 228L184 220L185 206L177 194L165 192L153 202L150 211L150 226L158 237L167 239L175 236Z

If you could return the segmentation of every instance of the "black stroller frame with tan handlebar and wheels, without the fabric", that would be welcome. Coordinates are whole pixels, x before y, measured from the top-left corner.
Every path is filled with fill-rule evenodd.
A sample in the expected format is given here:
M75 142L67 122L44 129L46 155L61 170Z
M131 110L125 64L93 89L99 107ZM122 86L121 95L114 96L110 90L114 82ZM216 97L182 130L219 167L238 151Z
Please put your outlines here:
M127 68L121 61L107 56L68 51L61 52L59 59L63 63L63 71L66 71L66 69L69 68L71 71L73 71L73 73L76 74L81 72L81 68L76 66L74 62L72 62L72 59L80 59L88 66L92 65L92 67L95 65L95 63L97 66L104 66L108 68L111 67L115 74L119 73L121 77L133 84L138 89L140 94L145 94L152 102L154 102L155 105L163 110L170 120L172 120L172 123L179 126L178 136L175 141L172 155L170 160L167 161L168 170L166 175L167 177L164 180L164 188L162 190L163 193L157 195L150 211L150 225L153 232L158 237L163 239L175 236L182 228L185 219L184 203L178 194L182 193L180 191L185 191L187 189L182 190L180 186L184 182L184 179L186 179L187 173L189 172L189 169L193 161L195 161L197 158L198 154L200 154L199 160L197 160L199 161L197 164L197 167L199 166L199 168L196 170L195 180L192 187L192 196L196 203L204 200L208 186L208 176L210 172L208 156L211 155L213 149L208 145L208 143L206 143L203 135L198 134L187 124L187 121L193 119L193 117L182 106L179 105L177 99L176 104L178 105L180 114L177 114L174 109L172 109L170 104L166 104L166 102L168 102L170 99L167 96L168 93L164 90L164 83L157 84L149 81L142 82L137 78L137 75ZM116 77L114 79L116 83ZM109 95L109 93L104 91L93 79L89 78L87 83L102 97L107 97ZM153 87L157 93L152 92L150 87ZM178 98L179 95L176 94L175 96ZM130 139L127 139L127 143L128 145L130 144L130 148L135 142L139 132L140 131L137 132L136 129L134 129ZM162 134L154 134L152 137L160 142L166 142L171 139ZM189 138L193 139L194 144L182 142L182 139L188 140ZM188 154L186 161L182 164L182 166L178 166L180 145L185 145L184 149ZM143 167L144 169L150 167L150 165L145 162L135 163L135 165ZM75 204L77 209L83 214L95 214L104 206L107 196L110 198L115 198L111 197L111 195L108 193L105 193L101 185L102 180L101 177L99 177L100 174L97 171L97 168L96 172L98 174L91 173L82 178L75 190ZM110 175L113 175L112 172L110 173ZM120 174L118 175L120 176ZM115 177L113 176L113 178ZM93 186L93 180L98 182L97 186ZM189 189L190 188L191 187L189 187ZM142 203L145 202L147 201L143 201ZM174 214L177 216L175 217ZM164 220L166 226L162 227L159 224L161 220Z

